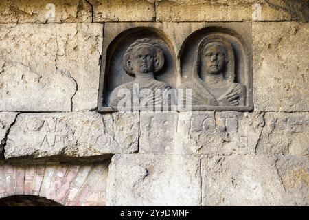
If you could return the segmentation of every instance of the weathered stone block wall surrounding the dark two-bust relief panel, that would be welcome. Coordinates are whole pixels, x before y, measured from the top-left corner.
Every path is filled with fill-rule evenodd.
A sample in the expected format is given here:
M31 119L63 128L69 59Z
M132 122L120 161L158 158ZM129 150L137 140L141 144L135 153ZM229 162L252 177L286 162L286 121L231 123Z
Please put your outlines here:
M249 23L253 111L98 111L111 27L150 21ZM308 0L1 1L0 197L308 206L308 21Z

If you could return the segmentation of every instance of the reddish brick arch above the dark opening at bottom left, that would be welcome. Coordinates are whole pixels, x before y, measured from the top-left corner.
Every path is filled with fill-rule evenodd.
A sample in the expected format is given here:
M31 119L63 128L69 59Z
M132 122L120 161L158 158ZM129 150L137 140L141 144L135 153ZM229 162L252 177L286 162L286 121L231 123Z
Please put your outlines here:
M0 164L0 199L32 195L63 206L105 206L108 164Z

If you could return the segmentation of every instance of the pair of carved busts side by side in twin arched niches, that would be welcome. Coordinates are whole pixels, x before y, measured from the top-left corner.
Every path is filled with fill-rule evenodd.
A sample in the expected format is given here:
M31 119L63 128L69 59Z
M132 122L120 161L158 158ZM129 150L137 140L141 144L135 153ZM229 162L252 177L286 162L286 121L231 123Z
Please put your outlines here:
M176 89L190 89L191 96L184 96L185 103L192 106L244 106L246 87L236 83L236 60L233 46L219 34L205 36L191 58L190 77L181 80ZM139 107L170 106L176 103L176 96L168 83L156 80L165 62L163 50L156 41L138 39L131 44L123 56L126 74L134 76L129 83L119 85L107 99L110 107L124 102L124 96Z

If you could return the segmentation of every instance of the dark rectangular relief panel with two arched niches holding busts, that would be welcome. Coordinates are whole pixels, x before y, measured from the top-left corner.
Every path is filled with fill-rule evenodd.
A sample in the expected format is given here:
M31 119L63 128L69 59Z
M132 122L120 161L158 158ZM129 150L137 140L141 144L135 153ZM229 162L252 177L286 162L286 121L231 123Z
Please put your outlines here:
M192 94L183 98L192 111L251 111L251 30L250 22L106 23L98 111L123 111L127 101L125 111L148 111L145 103L190 111L179 91Z

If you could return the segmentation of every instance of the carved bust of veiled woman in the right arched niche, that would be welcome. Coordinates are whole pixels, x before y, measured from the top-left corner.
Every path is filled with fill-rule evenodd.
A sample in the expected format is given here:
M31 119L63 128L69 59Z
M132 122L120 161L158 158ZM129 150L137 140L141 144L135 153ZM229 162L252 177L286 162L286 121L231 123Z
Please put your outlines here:
M234 80L233 47L224 37L213 34L199 43L192 80L181 88L192 89L192 105L244 106L246 88Z

